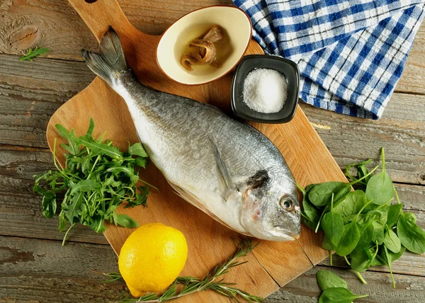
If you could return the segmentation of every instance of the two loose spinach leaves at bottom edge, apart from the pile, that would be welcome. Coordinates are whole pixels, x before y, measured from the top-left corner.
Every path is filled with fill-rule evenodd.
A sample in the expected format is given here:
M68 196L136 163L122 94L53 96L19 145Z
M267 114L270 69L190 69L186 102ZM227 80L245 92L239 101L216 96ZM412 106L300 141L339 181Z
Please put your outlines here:
M347 283L329 270L319 270L316 278L319 287L323 290L319 303L351 303L355 299L368 297L368 295L354 295L348 290Z

